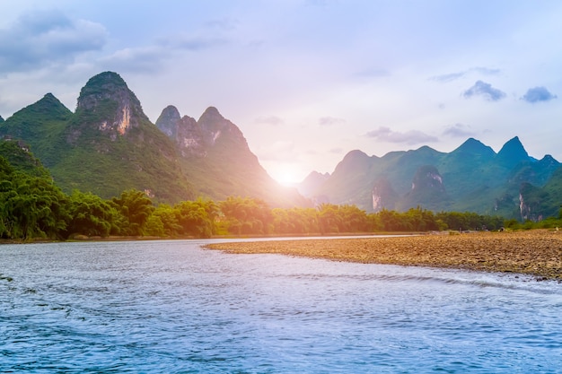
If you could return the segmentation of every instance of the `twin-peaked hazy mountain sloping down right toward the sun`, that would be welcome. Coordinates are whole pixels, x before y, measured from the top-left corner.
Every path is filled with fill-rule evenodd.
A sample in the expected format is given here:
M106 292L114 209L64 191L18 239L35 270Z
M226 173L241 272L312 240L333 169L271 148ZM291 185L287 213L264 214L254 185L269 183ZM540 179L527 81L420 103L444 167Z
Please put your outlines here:
M156 126L181 154L180 165L198 195L222 200L253 196L277 206L310 204L295 188L282 187L259 164L238 126L209 107L198 120L162 110Z

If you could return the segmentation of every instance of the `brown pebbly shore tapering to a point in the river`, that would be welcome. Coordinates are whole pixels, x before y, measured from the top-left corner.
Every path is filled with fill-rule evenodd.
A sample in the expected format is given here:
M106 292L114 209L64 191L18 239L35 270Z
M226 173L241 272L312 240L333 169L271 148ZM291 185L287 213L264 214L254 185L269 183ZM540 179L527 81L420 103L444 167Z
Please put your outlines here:
M211 244L229 253L277 253L373 264L454 267L562 280L562 230L427 234Z

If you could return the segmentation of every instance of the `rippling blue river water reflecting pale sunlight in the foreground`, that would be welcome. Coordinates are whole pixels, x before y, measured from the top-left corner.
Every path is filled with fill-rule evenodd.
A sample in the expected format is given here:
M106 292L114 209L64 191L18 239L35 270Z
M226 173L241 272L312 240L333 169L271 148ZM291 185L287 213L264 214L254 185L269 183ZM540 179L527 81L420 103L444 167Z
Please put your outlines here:
M562 372L562 284L201 243L0 247L0 372Z

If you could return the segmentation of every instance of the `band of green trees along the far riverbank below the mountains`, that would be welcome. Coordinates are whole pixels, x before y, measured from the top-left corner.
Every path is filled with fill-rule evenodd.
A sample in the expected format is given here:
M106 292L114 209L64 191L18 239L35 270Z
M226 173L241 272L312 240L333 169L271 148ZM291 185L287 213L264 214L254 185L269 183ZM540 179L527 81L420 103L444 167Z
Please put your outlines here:
M123 191L102 199L92 193L65 194L48 173L16 169L0 157L0 239L85 239L109 237L211 238L242 235L332 235L430 230L503 230L558 227L561 217L541 222L505 221L477 213L365 213L356 205L271 208L258 198L230 196L154 204L145 192Z

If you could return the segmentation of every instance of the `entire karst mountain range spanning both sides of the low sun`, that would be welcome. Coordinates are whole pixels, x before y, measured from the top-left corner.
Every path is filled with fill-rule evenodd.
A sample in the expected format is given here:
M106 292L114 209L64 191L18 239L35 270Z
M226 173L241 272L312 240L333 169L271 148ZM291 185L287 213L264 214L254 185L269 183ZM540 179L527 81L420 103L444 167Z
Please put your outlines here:
M356 204L378 212L420 206L535 221L558 216L562 203L560 163L549 155L530 157L518 137L497 153L473 138L449 153L427 146L382 157L352 151L333 173L312 172L299 194L269 177L240 128L214 107L196 120L168 106L153 124L112 72L84 85L75 112L48 93L12 117L0 117L0 137L16 141L0 146L8 160L42 164L67 193L78 189L103 198L136 188L171 204L250 196L273 207ZM31 146L40 161L5 154L13 144Z

